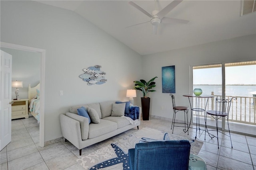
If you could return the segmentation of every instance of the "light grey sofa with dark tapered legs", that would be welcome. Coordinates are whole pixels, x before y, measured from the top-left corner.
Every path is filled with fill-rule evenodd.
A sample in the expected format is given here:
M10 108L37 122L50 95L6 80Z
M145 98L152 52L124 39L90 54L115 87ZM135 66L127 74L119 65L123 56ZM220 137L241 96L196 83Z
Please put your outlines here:
M69 141L79 149L82 154L82 148L88 147L119 133L127 131L137 126L139 129L140 116L138 122L134 125L126 118L113 117L112 104L116 101L107 101L94 104L78 105L70 107L70 112L60 115L60 125L62 135L65 141ZM93 108L100 117L100 123L90 123L87 117L78 115L77 109L84 106ZM140 107L141 115L141 107Z

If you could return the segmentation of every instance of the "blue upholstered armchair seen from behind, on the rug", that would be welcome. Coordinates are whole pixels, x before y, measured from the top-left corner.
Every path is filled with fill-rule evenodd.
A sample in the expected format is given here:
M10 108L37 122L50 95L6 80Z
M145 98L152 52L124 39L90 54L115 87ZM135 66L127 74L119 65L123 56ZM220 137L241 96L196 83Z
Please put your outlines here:
M188 170L189 141L137 143L129 149L130 170Z

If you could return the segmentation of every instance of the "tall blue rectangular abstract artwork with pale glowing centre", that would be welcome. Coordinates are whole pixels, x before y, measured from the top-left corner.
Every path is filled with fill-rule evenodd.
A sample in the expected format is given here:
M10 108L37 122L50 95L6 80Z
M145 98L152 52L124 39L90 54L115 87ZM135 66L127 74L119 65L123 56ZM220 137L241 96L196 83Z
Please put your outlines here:
M162 93L175 93L175 66L162 67Z

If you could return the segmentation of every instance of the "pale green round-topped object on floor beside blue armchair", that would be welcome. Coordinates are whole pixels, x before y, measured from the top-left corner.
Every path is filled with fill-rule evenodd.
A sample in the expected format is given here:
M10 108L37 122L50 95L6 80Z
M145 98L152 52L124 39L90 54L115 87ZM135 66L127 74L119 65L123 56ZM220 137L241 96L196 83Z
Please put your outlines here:
M188 170L207 170L206 162L200 156L190 154Z

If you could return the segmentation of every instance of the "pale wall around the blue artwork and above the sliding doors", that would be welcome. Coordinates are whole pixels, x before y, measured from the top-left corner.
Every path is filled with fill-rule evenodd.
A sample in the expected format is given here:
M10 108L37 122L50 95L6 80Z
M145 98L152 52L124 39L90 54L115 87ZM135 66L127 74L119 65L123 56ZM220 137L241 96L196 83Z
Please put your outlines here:
M169 94L162 93L162 66L175 65L176 104L189 106L183 94L192 94L190 89L190 66L225 62L256 60L256 35L228 39L187 47L163 53L143 56L143 77L156 79L156 92L149 93L151 98L150 114L172 118L173 110ZM162 110L161 107L164 109ZM184 119L178 117L178 119Z

